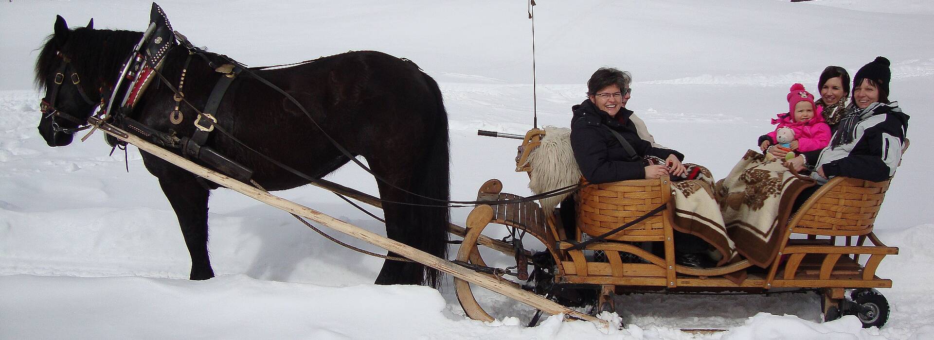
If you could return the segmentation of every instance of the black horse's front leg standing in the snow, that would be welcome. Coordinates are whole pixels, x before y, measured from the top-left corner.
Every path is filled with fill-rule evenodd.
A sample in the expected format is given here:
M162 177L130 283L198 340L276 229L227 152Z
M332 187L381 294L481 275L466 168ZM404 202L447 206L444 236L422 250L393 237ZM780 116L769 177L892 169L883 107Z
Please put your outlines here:
M194 176L160 179L165 197L176 211L185 245L191 254L191 278L214 278L214 269L207 256L207 197L210 192L195 181Z

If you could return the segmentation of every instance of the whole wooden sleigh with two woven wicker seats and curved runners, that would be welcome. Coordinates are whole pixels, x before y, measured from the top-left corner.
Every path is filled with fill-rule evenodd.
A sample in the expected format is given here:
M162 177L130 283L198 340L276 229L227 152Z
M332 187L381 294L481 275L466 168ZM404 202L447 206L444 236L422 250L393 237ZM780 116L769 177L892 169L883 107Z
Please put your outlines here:
M517 157L517 171L532 170L526 165L526 159L541 143L544 133L544 130L532 129L526 134L520 148L522 152ZM887 320L889 307L884 296L874 288L890 288L892 280L881 279L875 272L885 255L898 254L899 249L884 245L872 233L872 227L890 181L873 183L836 177L820 187L792 215L780 238L779 258L768 268L758 268L747 260L702 269L676 265L672 204L607 237L607 241L569 251L584 235L601 235L642 217L662 203L671 202L672 188L667 179L585 187L577 198L579 231L573 235L567 235L560 223L560 208L553 214L545 214L534 201L478 206L467 218L467 230L457 260L485 266L476 240L483 237L482 232L488 225L502 224L521 230L545 245L551 260L545 265L550 267L539 267L543 264L538 261L534 271L542 273L544 270L553 278L545 282L550 288L543 289L542 278L520 285L504 279L501 273L490 274L490 277L540 294L551 293L552 298L555 287L562 285L593 288L600 292L593 312L614 310L612 296L616 292L646 289L776 292L800 288L821 292L825 320L852 314L864 327L881 327ZM521 197L502 193L502 183L489 180L480 187L477 198L515 200ZM867 239L870 242L867 243ZM635 242L661 245L662 252L657 255L659 252L645 250ZM592 254L597 251L603 255L595 260ZM523 268L530 264L531 252L517 250L513 253L517 255L519 274L527 272ZM724 277L743 270L746 270L746 278L739 283ZM467 315L475 320L493 320L474 299L472 286L461 279L455 282L458 299ZM848 289L853 289L849 297L845 296Z

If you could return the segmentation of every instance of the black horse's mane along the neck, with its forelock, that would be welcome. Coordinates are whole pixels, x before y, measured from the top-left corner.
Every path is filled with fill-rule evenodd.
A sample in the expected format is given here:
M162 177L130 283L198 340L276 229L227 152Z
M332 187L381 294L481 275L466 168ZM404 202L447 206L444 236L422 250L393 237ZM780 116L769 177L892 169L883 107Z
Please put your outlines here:
M59 46L55 34L50 34L35 61L35 86L45 87L46 79L55 72L59 65L56 52L67 56L81 76L98 77L102 84L113 81L120 65L142 36L141 32L81 27L71 30L64 46Z

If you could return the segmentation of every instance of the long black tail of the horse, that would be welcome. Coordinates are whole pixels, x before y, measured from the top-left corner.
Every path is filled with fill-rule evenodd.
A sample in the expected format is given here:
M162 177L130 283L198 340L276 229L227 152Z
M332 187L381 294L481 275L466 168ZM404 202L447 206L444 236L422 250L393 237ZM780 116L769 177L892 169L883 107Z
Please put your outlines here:
M432 197L440 200L449 200L450 199L450 145L449 137L447 130L447 112L445 110L445 104L441 96L441 89L438 88L438 83L432 79L431 76L425 75L425 82L428 87L432 90L432 96L434 97L434 102L436 102L436 107L433 108L432 116L435 124L432 129L433 136L430 141L431 146L428 148L428 153L425 155L423 160L423 166L416 169L417 173L414 173L414 178L416 179L413 189L414 191L424 197ZM444 201L438 201L434 199L417 197L417 202L420 204L445 206ZM422 213L414 218L418 219L414 225L417 225L417 237L413 244L418 249L429 252L432 255L441 257L443 259L447 258L447 230L448 225L451 221L450 210L445 207L424 207ZM441 271L425 267L425 283L428 285L438 288L441 285Z

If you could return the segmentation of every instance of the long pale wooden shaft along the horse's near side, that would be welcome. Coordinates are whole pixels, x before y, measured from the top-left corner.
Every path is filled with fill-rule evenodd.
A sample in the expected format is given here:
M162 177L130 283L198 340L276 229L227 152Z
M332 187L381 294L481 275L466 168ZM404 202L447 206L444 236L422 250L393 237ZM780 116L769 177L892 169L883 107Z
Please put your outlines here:
M123 142L134 144L140 150L143 150L152 156L163 158L165 161L175 164L181 169L189 170L192 173L204 177L211 182L223 185L233 191L259 200L262 203L273 206L279 210L294 213L319 224L327 225L334 230L340 231L353 238L359 238L389 252L398 253L409 259L417 261L422 265L431 266L432 268L441 270L459 279L470 281L490 291L499 292L526 305L542 309L549 314L558 315L560 313L564 313L576 319L592 321L604 326L608 326L608 323L605 320L600 320L573 310L569 307L561 306L558 303L545 299L544 297L536 295L532 292L526 292L521 289L517 289L496 279L488 278L487 276L474 272L473 270L464 268L460 265L454 265L451 262L434 256L430 253L419 251L394 239L382 237L371 231L364 230L356 225L348 224L344 221L335 219L327 214L304 207L303 205L297 204L288 199L276 197L272 194L269 194L268 192L236 181L233 178L227 177L214 170L208 170L200 165L195 164L194 162L191 162L191 160L173 154L159 146L156 146L155 144L149 143L110 124L102 124L101 128L101 130L105 131L107 134L110 134Z

